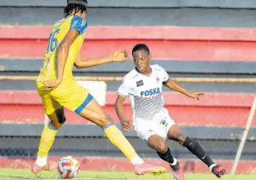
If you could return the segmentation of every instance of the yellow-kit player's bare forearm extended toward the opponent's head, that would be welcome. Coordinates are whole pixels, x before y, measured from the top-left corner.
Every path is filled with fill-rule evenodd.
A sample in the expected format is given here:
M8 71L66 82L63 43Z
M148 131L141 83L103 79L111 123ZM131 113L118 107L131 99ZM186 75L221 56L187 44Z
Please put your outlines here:
M83 69L88 67L93 67L96 65L103 65L109 62L119 62L125 61L129 59L128 52L126 50L119 50L113 53L112 56L109 57L98 57L98 58L87 58L82 59L80 54L78 54L77 58L75 59L75 67L77 69Z

